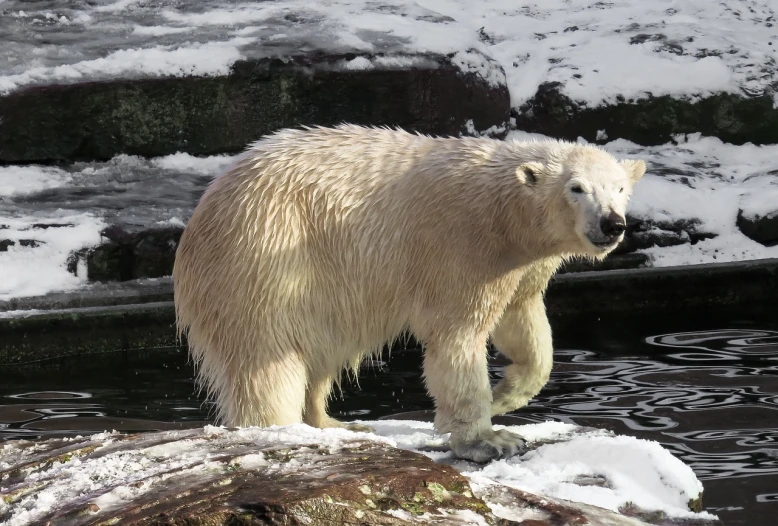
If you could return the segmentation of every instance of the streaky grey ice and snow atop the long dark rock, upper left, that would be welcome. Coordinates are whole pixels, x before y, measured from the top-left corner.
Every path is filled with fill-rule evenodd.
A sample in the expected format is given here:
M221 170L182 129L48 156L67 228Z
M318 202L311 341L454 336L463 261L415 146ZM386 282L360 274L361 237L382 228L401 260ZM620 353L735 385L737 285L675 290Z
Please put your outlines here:
M79 37L85 31L89 39ZM389 55L388 62L372 61L371 67L402 65L393 62L392 55L398 54L458 54L462 57L456 63L464 71L505 83L499 66L485 58L488 50L475 31L434 10L399 1L119 1L68 6L56 13L48 6L34 9L10 1L0 4L0 33L16 42L0 53L0 94L78 79L220 75L239 59L311 50Z

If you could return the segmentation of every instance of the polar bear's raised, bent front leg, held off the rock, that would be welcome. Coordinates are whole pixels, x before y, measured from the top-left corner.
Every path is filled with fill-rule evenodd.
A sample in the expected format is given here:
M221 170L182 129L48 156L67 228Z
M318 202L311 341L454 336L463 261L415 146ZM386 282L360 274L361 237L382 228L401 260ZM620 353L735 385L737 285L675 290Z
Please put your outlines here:
M515 299L492 332L492 343L513 361L494 388L491 413L500 415L527 405L551 375L554 349L543 295Z

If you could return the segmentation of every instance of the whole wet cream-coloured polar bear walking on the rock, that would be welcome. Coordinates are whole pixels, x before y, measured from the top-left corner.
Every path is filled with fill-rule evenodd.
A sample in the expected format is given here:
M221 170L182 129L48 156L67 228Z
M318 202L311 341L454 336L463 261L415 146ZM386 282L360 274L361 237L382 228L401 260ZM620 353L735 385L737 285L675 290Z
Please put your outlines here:
M177 324L222 423L342 426L333 381L403 331L463 458L519 452L491 416L549 378L543 294L622 239L643 161L559 141L282 130L207 188L173 270ZM490 388L487 339L513 361Z

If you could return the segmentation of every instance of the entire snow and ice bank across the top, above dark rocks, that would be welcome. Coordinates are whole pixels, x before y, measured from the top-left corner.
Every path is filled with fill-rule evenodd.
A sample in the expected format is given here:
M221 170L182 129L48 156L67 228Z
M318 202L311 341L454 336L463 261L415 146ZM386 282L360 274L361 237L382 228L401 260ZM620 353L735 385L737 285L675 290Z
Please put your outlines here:
M776 81L774 16L766 0L120 0L54 10L10 0L0 4L0 34L16 44L0 53L0 92L72 78L215 74L242 57L316 49L467 55L465 71L503 82L483 58L491 57L514 106L543 82L561 82L589 105L761 94Z

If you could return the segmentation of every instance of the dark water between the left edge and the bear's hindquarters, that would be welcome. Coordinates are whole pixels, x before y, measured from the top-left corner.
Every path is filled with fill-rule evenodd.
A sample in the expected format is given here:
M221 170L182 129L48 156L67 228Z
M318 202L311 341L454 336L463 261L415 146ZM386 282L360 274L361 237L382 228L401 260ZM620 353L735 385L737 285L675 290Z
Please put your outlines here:
M209 421L181 349L0 367L0 440L180 429Z

